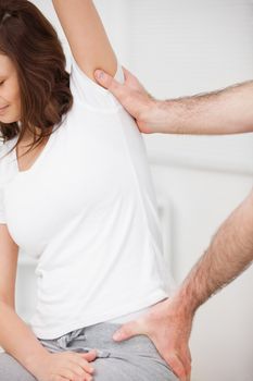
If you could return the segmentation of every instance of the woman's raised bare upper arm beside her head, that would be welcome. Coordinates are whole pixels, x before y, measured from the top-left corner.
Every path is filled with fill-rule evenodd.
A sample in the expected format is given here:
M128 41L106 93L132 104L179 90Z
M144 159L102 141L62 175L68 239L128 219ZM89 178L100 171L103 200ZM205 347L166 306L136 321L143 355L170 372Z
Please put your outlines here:
M102 69L114 76L117 60L93 2L91 0L52 2L79 67L94 82L96 69Z

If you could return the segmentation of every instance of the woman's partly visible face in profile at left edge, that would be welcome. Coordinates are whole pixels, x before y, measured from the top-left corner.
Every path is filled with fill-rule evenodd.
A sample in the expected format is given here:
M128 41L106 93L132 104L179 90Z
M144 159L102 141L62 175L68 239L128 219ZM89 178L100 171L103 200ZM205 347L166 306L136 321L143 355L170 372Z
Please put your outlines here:
M0 53L0 122L13 123L21 119L21 96L17 72L12 60Z

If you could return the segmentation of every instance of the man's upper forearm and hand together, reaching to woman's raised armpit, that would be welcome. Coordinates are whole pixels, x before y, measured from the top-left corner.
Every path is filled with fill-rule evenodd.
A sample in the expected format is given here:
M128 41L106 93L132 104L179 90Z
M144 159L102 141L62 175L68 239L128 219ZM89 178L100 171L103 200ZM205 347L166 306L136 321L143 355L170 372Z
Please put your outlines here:
M136 119L141 133L218 135L253 131L253 81L206 94L156 100L137 77L123 70L124 84L101 70L94 72L94 77Z

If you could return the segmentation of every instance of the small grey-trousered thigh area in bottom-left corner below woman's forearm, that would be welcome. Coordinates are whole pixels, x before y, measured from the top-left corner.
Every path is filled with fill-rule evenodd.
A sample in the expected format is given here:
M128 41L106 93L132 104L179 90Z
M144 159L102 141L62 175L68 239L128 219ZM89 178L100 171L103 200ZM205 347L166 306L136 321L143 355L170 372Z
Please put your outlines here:
M36 381L14 357L7 353L0 354L0 380L1 381Z

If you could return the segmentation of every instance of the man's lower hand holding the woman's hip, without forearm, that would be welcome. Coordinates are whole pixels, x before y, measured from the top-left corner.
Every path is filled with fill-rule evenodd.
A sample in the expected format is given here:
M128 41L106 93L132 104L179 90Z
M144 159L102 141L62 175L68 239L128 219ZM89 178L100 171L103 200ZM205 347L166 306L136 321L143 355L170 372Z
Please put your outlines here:
M115 332L119 334L118 339L115 333L113 339L118 342L146 334L179 380L190 381L191 354L188 342L192 317L178 312L176 305L173 298L157 303L141 318L123 324Z

